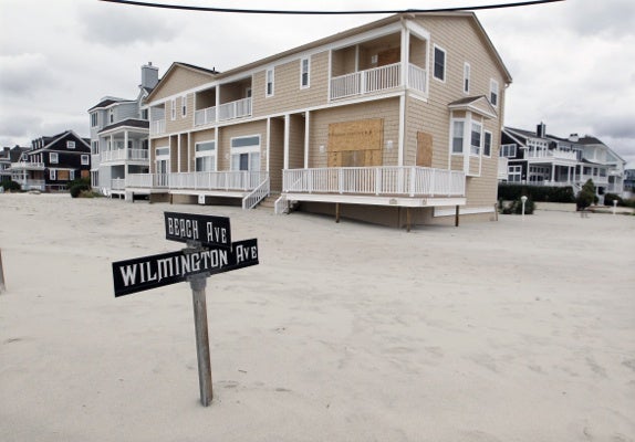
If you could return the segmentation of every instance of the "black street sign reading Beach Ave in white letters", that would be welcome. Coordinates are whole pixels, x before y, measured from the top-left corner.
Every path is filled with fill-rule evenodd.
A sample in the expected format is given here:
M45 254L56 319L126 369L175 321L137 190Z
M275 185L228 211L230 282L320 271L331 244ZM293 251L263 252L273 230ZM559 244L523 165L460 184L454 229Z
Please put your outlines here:
M165 212L165 238L170 241L194 241L207 246L229 249L229 218Z

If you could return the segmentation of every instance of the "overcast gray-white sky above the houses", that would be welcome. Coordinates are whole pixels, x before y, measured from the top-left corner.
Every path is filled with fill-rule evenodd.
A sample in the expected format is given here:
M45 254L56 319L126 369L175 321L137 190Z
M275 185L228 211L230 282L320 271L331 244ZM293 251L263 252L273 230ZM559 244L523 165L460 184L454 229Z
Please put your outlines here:
M427 9L510 0L155 0L303 10ZM510 71L506 125L602 139L635 167L635 0L566 0L478 11ZM0 0L0 146L89 135L86 110L135 98L140 66L227 71L385 15L259 15L98 0Z

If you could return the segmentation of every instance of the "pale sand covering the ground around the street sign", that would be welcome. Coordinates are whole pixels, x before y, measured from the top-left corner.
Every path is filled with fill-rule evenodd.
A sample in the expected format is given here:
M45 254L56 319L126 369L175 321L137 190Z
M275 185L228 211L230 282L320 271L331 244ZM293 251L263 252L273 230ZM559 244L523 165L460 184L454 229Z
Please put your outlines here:
M114 297L113 261L230 217L260 265ZM635 217L410 233L302 213L0 194L0 440L634 441Z

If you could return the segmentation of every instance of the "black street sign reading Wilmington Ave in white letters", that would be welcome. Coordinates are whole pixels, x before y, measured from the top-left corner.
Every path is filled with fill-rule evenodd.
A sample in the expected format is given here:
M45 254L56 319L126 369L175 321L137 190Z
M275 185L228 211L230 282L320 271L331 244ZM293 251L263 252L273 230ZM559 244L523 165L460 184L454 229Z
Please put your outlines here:
M257 239L237 241L231 249L201 248L118 261L113 263L115 297L184 282L197 274L209 276L257 264Z

